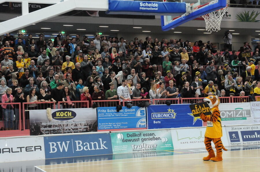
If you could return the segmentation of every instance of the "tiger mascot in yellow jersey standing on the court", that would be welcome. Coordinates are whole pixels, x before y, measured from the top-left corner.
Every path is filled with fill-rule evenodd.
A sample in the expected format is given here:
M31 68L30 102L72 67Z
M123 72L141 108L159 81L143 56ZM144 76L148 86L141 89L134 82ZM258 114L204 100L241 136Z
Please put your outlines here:
M225 151L227 151L227 149L224 148L221 141L222 127L221 127L220 111L218 109L218 105L220 104L220 101L218 96L211 95L205 97L204 102L207 102L209 104L212 114L211 115L204 115L203 113L200 114L200 118L204 122L207 122L204 143L209 155L204 157L203 160L222 161L222 149ZM214 150L211 147L211 141L213 141L213 143L215 144L215 148L217 150L217 156L215 156Z

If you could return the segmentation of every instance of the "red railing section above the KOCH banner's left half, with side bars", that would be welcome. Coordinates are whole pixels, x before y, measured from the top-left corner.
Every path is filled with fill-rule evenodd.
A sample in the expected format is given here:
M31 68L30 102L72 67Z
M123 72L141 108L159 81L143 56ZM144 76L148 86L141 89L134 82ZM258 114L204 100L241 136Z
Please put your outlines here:
M24 129L29 129L30 127L29 110L38 110L38 109L46 109L46 108L55 109L56 107L54 102L24 102L23 109L22 109Z

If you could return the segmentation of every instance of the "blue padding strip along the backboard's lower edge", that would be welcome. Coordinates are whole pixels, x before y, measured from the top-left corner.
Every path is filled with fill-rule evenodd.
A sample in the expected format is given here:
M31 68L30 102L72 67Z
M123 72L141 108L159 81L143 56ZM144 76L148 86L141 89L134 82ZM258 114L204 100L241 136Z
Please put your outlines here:
M211 4L211 5L208 5L206 7L203 7L193 13L190 13L189 15L187 16L183 16L183 17L179 17L178 19L174 20L173 22L167 24L167 25L164 25L164 16L161 16L161 29L163 31L167 31L167 30L170 30L171 28L175 28L183 23L186 23L190 20L193 20L199 16L202 16L202 15L205 15L205 14L208 14L212 11L215 11L217 9L221 9L221 8L224 8L226 7L226 1L219 1L218 3L216 4Z

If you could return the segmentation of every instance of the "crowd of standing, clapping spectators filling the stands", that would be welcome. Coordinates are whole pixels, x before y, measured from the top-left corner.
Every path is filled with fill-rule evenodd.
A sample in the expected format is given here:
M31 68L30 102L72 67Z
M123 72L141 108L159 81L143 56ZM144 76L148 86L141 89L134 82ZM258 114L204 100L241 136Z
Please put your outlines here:
M10 90L5 91L11 88L13 96L2 102L63 101L66 108L73 108L75 104L68 102L75 100L153 102L211 94L243 93L252 99L260 95L260 43L254 50L246 42L240 50L230 53L226 48L222 54L214 51L210 41L196 41L192 46L188 40L153 41L150 36L127 41L101 35L90 40L57 35L46 42L42 34L35 40L31 34L15 39L8 33L0 43L0 93L9 95Z

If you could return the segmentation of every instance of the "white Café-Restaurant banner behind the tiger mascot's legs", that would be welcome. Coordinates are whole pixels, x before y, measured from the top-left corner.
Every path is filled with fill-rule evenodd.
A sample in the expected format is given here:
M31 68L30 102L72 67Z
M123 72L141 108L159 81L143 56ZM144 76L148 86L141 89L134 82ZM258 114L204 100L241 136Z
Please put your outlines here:
M192 148L205 148L204 135L206 127L199 128L186 128L186 129L171 129L172 143L174 149L192 149ZM228 146L229 142L226 137L225 127L222 127L222 143ZM215 148L214 144L212 147Z

